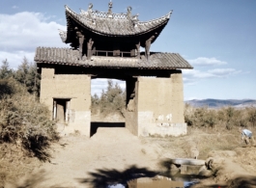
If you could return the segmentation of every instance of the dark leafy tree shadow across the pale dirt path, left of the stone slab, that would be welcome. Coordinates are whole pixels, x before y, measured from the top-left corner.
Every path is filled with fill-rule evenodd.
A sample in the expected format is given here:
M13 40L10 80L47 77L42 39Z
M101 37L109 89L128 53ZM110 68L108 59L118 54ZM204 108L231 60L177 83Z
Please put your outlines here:
M138 168L133 165L124 171L118 171L115 169L99 169L96 173L89 173L89 175L89 178L77 180L86 185L86 187L90 185L91 187L106 188L108 185L115 185L118 183L126 185L128 180L145 176L153 177L157 175L157 173L146 168Z

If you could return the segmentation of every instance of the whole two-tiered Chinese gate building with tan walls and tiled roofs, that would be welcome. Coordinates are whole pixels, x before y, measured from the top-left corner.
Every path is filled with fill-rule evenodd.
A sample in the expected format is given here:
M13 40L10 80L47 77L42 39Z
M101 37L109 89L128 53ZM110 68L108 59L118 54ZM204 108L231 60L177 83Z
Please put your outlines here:
M91 136L91 80L126 81L126 128L136 136L186 134L182 68L193 68L178 53L151 52L171 13L149 21L138 14L93 10L75 13L65 6L68 48L38 47L41 101L67 131ZM141 47L145 51L140 51ZM52 98L54 98L52 100ZM67 101L70 98L70 103Z

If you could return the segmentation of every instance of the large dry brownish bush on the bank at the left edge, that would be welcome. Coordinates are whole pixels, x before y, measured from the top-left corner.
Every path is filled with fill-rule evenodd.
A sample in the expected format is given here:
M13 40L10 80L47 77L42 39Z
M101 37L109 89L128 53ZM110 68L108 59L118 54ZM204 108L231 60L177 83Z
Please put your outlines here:
M55 122L38 99L14 79L0 80L0 187L4 181L30 173L58 139Z

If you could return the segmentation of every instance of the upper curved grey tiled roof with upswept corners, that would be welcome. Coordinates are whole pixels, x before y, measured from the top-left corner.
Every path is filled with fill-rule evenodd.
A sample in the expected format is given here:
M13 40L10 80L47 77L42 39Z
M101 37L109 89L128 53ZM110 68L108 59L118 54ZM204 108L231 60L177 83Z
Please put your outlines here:
M82 27L103 36L134 36L143 35L156 29L163 29L169 21L172 12L150 21L139 21L137 15L129 15L128 13L102 13L98 11L83 11L74 13L68 6L66 8L66 16L68 22L68 33L73 28L70 28L70 22L73 20ZM67 39L67 32L60 31L62 40ZM69 36L69 35L68 35ZM67 39L69 42L69 39Z

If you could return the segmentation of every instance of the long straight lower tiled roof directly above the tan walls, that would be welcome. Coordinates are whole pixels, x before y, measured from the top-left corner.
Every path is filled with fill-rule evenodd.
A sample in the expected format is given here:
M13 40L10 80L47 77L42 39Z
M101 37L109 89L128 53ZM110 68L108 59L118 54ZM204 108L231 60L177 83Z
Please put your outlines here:
M35 61L38 64L54 64L77 67L118 67L141 69L176 69L193 68L178 53L153 52L149 61L142 55L141 59L122 57L93 56L92 60L77 60L79 52L70 48L38 47Z

